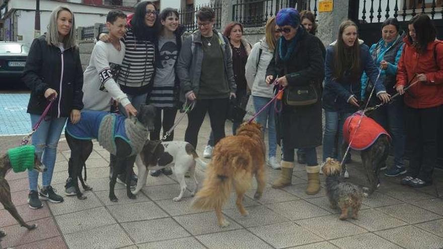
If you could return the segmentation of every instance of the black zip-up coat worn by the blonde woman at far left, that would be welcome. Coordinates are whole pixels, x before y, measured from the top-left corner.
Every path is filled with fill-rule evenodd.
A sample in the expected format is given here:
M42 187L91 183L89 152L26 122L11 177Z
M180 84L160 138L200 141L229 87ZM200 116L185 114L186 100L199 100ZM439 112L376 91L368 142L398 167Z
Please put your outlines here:
M57 92L49 110L51 117L69 117L72 109L83 109L83 68L78 48L49 46L43 35L34 39L26 59L22 80L31 90L28 110L42 114L49 101L44 97L48 88Z

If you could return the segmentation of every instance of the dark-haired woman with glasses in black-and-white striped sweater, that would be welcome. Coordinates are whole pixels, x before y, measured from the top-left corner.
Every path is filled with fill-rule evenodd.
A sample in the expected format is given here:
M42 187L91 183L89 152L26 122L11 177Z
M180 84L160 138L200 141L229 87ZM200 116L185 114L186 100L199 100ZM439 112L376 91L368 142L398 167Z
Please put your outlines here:
M156 48L159 26L156 7L149 1L139 3L134 15L128 16L128 29L123 37L126 51L117 82L136 109L146 102L146 97L153 88L155 58L160 57ZM99 37L102 41L109 41L106 34L100 34ZM130 115L121 105L118 109L123 115ZM114 163L115 156L111 155L110 165ZM125 176L118 175L117 182L124 183ZM136 186L136 182L137 178L132 174L131 186Z

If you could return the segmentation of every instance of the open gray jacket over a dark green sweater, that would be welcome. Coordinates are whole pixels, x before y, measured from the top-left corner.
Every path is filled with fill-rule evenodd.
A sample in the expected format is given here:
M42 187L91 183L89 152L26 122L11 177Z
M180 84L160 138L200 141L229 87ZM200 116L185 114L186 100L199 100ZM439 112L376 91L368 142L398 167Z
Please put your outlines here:
M236 92L234 72L232 70L231 47L228 38L213 30L214 35L218 35L218 41L224 53L225 75L231 93ZM177 75L180 79L180 101L185 101L185 94L193 91L198 97L200 87L201 63L203 61L200 31L194 32L186 38L182 44L182 49L177 61Z

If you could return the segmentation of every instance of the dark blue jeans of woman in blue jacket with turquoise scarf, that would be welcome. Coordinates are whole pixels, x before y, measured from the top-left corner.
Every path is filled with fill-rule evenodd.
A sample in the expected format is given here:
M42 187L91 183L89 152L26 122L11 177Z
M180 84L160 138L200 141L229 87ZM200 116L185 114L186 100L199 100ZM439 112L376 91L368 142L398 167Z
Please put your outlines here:
M374 111L374 120L389 131L394 146L394 165L404 167L406 134L403 99L397 99Z

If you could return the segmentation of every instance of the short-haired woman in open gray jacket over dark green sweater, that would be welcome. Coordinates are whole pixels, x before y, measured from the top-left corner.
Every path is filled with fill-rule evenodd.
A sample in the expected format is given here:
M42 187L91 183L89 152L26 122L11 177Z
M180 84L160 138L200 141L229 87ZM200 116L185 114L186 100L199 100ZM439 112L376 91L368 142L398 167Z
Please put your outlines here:
M236 84L228 38L213 29L215 13L202 7L197 14L198 31L183 43L177 62L183 102L195 101L188 113L185 141L197 147L197 137L206 113L209 113L214 145L225 137L225 121Z

